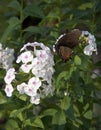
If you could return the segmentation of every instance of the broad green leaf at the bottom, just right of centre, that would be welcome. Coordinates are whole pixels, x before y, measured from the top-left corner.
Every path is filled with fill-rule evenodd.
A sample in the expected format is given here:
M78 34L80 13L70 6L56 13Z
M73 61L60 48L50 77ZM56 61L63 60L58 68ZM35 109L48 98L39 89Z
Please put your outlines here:
M66 115L64 111L59 110L52 118L52 124L63 125L66 123Z

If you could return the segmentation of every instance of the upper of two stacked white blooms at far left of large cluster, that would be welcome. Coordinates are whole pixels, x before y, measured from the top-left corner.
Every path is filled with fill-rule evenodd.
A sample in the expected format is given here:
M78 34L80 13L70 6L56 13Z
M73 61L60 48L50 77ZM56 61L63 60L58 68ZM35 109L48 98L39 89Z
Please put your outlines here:
M5 83L10 84L13 79L15 79L15 69L10 68L6 73L6 76L4 77L4 81Z

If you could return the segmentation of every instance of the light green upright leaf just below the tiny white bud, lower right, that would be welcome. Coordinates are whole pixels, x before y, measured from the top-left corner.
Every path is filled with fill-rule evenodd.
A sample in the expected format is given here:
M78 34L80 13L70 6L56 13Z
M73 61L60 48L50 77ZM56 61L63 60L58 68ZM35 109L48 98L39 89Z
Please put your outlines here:
M67 110L70 107L70 97L65 96L63 100L61 100L61 109Z

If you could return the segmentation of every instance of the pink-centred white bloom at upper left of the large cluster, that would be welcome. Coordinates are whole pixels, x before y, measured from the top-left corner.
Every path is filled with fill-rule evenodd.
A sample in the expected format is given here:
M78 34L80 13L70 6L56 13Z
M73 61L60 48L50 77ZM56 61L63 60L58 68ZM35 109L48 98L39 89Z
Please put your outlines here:
M31 51L25 51L23 53L21 53L20 56L18 56L17 58L17 63L19 62L23 62L23 63L28 63L28 62L31 62L33 60L33 55L31 53Z

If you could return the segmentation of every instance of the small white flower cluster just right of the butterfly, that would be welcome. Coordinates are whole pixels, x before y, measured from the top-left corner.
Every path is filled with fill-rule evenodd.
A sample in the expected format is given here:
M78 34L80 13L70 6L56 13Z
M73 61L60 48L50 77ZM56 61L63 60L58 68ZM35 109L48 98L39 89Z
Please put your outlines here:
M95 42L95 37L88 31L82 31L82 37L86 37L88 45L84 48L84 54L85 55L92 55L93 52L96 52L97 54L97 46Z

